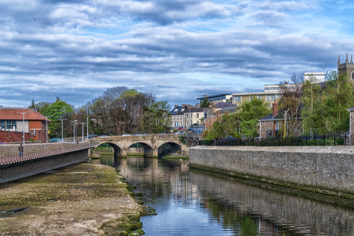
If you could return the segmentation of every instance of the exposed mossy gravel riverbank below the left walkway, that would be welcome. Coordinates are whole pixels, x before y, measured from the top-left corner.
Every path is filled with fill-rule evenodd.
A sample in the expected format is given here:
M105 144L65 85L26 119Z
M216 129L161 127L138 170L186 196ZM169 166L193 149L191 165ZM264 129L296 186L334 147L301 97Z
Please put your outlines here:
M105 165L79 163L0 184L0 235L142 235L145 212Z

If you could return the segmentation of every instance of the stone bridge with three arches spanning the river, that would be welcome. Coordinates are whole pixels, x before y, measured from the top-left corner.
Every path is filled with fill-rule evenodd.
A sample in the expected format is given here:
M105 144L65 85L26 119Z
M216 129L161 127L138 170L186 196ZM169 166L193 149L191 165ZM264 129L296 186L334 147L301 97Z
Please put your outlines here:
M141 144L144 148L144 156L158 157L159 148L163 144L170 145L173 150L181 151L185 146L177 134L149 134L139 136L109 136L91 138L98 140L99 144L108 143L114 149L114 156L126 157L127 149L133 144Z

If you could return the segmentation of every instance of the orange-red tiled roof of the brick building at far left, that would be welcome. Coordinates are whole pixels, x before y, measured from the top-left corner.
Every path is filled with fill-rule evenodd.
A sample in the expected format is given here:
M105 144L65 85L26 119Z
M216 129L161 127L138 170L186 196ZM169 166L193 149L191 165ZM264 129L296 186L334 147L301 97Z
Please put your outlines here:
M24 114L25 120L46 120L46 117L42 117L43 115L40 114L35 109L16 108L16 107L1 107L0 120L23 120L22 113L25 113ZM48 119L48 122L52 122L52 121Z

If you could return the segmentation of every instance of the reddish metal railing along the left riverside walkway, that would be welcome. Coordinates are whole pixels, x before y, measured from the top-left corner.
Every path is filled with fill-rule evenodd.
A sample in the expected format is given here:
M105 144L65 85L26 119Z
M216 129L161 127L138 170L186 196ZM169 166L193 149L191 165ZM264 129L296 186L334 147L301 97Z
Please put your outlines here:
M52 145L53 146L53 144L43 144L43 146L44 145ZM64 154L64 153L72 152L72 151L76 151L76 150L92 148L94 146L97 146L97 143L87 142L87 143L82 143L78 146L71 146L71 147L61 146L58 149L42 150L42 151L35 151L35 152L26 151L26 148L28 148L30 146L34 146L34 145L28 145L28 146L24 145L23 146L23 148L24 148L23 157L19 157L19 155L0 157L0 165L6 165L6 164L14 163L14 162L20 162L20 161L25 161L25 160L30 160L30 159L37 159L37 158L41 158L41 157L52 156L52 155L57 155L57 154ZM39 145L35 145L35 146L39 146ZM5 149L15 149L15 152L19 153L19 151L17 151L18 147L19 146L3 146L3 147L0 147L0 151L5 150Z

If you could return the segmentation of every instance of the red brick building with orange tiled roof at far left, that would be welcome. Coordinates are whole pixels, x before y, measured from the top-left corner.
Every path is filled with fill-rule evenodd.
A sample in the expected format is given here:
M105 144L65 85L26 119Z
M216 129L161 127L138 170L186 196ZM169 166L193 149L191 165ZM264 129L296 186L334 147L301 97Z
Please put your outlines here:
M48 119L47 122L52 121ZM46 143L46 117L43 117L37 110L30 108L1 107L0 143L23 141L23 131L25 132L25 141L32 138L34 141Z

